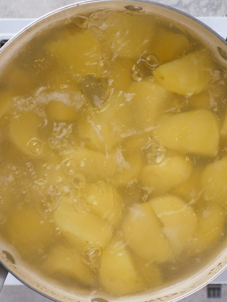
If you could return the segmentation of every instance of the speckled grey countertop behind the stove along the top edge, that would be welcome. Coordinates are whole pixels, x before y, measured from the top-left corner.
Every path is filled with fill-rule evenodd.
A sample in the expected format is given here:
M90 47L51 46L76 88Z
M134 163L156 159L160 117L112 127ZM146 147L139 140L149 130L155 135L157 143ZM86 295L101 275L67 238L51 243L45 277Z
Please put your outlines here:
M38 18L73 0L0 0L0 18ZM185 11L192 16L227 14L227 0L162 0L156 1Z

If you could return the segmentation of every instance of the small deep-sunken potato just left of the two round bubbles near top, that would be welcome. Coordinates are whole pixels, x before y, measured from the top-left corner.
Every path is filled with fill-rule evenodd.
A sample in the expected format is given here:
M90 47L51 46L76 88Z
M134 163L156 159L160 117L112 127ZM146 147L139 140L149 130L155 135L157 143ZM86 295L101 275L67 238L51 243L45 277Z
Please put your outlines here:
M126 91L132 81L132 67L134 61L130 59L116 59L113 62L113 69L108 78L111 88Z

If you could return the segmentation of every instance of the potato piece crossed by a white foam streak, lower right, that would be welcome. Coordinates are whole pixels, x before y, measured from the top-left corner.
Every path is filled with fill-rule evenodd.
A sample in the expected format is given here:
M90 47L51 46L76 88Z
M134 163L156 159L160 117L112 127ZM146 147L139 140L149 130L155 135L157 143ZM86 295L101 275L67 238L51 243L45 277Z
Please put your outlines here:
M179 253L197 229L198 218L194 210L181 198L170 194L153 198L149 203L163 224L163 233L174 251Z

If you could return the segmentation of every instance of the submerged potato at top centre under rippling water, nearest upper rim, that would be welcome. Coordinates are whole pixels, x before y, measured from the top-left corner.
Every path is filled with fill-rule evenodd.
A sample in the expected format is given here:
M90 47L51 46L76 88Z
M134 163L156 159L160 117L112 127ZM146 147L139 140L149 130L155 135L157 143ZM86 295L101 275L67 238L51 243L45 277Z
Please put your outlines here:
M154 22L147 16L121 15L105 31L104 37L114 54L121 58L139 59L152 43L153 33Z

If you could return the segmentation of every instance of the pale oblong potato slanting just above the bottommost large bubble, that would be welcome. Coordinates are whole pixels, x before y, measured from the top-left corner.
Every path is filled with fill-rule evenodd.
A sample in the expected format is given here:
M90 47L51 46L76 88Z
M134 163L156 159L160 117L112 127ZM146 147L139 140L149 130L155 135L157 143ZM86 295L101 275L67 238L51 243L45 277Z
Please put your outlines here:
M92 213L88 205L82 204L83 200L78 200L81 202L79 206L86 206L86 208L84 208L84 213L79 213L73 204L75 198L77 196L61 202L60 207L52 215L55 224L72 243L81 243L87 247L107 246L113 232L111 225L107 220Z

